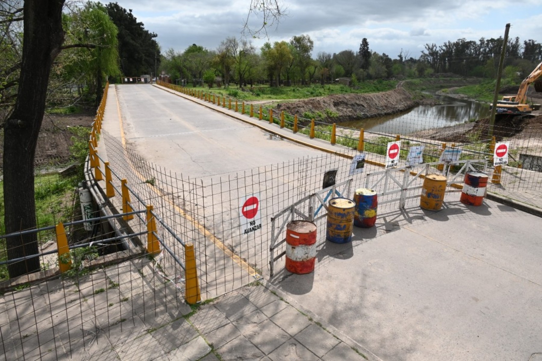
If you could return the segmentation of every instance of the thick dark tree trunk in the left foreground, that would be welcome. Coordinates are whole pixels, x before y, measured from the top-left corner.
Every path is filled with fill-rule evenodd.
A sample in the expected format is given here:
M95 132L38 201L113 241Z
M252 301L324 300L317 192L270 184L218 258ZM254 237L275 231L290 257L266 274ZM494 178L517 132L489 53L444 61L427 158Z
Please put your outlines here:
M6 233L36 227L34 152L40 133L53 60L64 40L64 0L25 0L23 57L17 100L4 128ZM7 239L8 259L38 253L37 235ZM10 277L40 270L40 259L11 264Z

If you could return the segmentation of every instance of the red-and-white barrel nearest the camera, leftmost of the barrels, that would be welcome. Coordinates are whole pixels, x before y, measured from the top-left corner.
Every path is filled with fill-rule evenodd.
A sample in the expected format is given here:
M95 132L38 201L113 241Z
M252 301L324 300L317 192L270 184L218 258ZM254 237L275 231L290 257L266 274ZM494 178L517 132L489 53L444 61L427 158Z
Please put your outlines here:
M286 225L286 270L305 274L314 271L316 225L309 221L291 221Z

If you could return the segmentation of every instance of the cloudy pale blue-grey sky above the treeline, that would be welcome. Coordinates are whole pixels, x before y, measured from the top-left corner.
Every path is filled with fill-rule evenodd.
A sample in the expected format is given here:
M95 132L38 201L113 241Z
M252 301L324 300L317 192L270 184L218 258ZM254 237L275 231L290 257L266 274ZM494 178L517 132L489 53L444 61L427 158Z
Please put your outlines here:
M158 34L163 52L190 44L216 49L228 36L241 37L250 0L117 0L132 9L145 29ZM542 0L283 0L287 7L269 41L308 34L319 51L357 51L362 38L371 50L396 58L401 49L420 56L427 43L504 35L542 42ZM251 21L261 22L252 17ZM253 39L260 47L266 38Z

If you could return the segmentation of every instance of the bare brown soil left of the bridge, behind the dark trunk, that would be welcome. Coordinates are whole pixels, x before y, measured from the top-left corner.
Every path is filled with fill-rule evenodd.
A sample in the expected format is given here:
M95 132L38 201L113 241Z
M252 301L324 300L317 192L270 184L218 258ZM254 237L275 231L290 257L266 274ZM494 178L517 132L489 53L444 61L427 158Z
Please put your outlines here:
M45 115L38 136L34 165L63 166L70 161L73 133L69 127L91 127L94 115ZM3 168L4 134L0 134L0 170Z

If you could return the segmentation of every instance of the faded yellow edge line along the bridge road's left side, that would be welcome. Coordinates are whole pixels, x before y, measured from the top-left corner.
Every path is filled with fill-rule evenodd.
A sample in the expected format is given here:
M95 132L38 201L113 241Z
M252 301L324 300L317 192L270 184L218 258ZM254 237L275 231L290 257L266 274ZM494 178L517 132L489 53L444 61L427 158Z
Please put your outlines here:
M124 137L124 128L122 128L122 117L121 117L121 113L120 113L120 103L119 103L119 97L117 96L117 89L115 88L115 100L117 100L117 113L119 115L119 125L120 125L120 137L121 137L121 141L122 141L122 146L124 146L125 148L125 151L126 151L126 139ZM141 175L137 169L135 169L135 167L132 165L132 162L130 161L130 158L129 157L126 157L126 159L128 160L128 163L130 163L130 167L132 168L132 170L134 171L134 173L138 176L138 178L144 182L145 179L143 177L143 175ZM176 209L177 212L179 212L179 214L184 217L186 220L188 220L189 222L191 222L191 224L193 226L195 226L198 230L199 233L203 234L205 237L209 238L218 248L220 248L226 255L228 255L228 257L230 257L233 261L235 261L239 266L241 266L241 268L245 271L247 271L249 273L249 275L251 276L254 276L254 275L259 275L259 273L257 273L254 268L252 268L246 261L244 261L241 257L239 257L237 254L231 252L231 250L226 247L224 245L224 243L215 237L214 234L212 234L211 232L209 232L209 230L207 228L205 228L203 225L201 225L198 221L196 221L195 219L193 219L190 215L186 214L185 211L183 211L183 209L179 208L176 204L174 204L173 202L171 202L169 199L166 199L164 198L164 195L163 193L156 187L154 187L153 185L149 184L149 183L146 183L149 187L151 187L152 191L154 193L156 193L158 196L162 197L167 203L169 203L173 208Z

